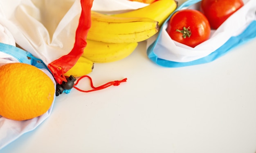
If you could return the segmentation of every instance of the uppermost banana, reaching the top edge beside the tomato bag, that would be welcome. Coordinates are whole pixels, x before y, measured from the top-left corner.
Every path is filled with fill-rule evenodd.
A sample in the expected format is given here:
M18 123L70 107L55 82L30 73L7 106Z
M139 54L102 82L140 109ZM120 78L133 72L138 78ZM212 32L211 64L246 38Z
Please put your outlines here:
M168 18L168 16L170 16L171 13L175 11L176 8L177 2L175 0L157 0L141 9L128 11L125 13L113 14L112 16L120 18L146 17L158 21L160 27L162 26L163 22Z

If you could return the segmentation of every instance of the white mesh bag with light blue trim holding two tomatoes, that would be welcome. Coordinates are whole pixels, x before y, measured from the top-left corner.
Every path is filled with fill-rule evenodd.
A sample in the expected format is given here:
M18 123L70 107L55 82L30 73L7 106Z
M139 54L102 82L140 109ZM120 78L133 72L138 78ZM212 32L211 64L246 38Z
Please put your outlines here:
M199 10L201 0L188 0L181 9ZM209 40L192 48L175 42L166 32L164 22L156 37L147 40L147 55L150 60L164 67L184 67L211 62L256 37L256 0L243 0L244 6L231 15L218 29L211 30ZM174 11L174 12L175 12Z

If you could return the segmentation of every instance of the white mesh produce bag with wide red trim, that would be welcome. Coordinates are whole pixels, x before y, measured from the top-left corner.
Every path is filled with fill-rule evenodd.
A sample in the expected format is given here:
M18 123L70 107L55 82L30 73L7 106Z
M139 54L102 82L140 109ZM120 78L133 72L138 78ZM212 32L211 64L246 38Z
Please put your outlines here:
M59 84L83 53L93 0L0 0L0 24Z

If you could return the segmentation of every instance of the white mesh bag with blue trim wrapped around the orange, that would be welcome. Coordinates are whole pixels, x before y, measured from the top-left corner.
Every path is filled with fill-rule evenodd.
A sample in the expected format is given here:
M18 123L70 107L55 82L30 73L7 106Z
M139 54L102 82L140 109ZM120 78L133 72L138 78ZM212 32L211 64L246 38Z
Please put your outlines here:
M1 33L1 36L2 34L3 33ZM9 41L11 39L7 38L5 40ZM42 70L45 74L47 74L49 78L52 79L54 86L56 86L56 82L52 76L52 73L47 69L46 65L43 63L42 60L34 58L31 53L11 45L13 43L13 40L9 41L11 42L9 44L4 44L2 42L3 41L0 42L0 66L13 62L22 62L34 65L38 69ZM52 102L52 106L53 104L54 101ZM0 115L0 150L7 144L16 140L22 134L34 130L39 124L41 124L46 118L49 117L52 111L52 106L46 113L31 120L15 121L4 118Z

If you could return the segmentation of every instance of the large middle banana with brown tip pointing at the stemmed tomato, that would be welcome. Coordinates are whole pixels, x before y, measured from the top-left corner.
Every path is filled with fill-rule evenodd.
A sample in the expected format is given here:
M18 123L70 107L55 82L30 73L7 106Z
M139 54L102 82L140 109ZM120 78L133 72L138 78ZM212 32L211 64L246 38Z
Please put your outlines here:
M159 31L158 22L150 18L124 18L91 11L91 28L87 39L107 43L141 42Z

